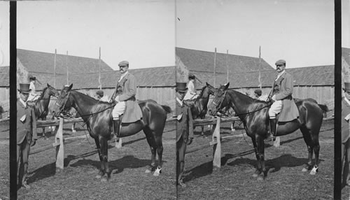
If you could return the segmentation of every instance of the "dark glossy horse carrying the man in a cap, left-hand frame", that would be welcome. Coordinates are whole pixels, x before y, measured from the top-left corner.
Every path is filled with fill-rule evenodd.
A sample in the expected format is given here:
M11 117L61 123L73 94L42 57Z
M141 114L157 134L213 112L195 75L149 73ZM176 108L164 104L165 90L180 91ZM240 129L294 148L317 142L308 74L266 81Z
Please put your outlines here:
M87 130L97 146L101 168L96 178L101 178L102 182L108 181L111 178L111 170L108 162L108 141L113 138L113 119L111 112L113 104L98 101L86 94L71 90L73 84L65 86L61 90L61 94L57 98L57 103L54 109L56 117L63 110L73 107L76 109L80 117L87 125ZM132 123L122 123L120 125L120 134L118 137L126 137L137 134L144 130L148 145L151 148L151 165L146 169L146 173L153 173L154 176L159 176L162 170L162 134L167 120L167 113L172 110L169 106L162 106L152 99L139 101L143 117L141 120ZM158 153L158 165L155 165L156 152Z

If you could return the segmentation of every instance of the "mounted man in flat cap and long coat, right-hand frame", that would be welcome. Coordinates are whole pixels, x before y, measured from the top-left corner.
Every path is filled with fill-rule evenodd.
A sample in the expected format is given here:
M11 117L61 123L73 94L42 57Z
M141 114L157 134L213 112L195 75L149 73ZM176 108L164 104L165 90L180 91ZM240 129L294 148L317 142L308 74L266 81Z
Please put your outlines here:
M299 117L299 111L292 97L293 76L286 72L285 60L279 59L276 62L276 71L278 75L268 98L273 102L269 108L269 124L273 136L276 136L277 114L280 113L279 122L289 122Z

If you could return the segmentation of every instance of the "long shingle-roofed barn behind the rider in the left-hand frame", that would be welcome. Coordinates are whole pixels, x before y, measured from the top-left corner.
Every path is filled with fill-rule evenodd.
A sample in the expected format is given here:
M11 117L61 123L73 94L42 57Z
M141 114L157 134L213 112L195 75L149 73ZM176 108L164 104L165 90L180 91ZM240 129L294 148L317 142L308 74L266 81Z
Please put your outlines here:
M35 76L38 91L43 90L46 83L57 90L73 83L74 90L92 97L100 86L111 96L120 78L119 71L114 71L102 59L59 54L55 59L55 53L18 49L17 62L18 83L27 81L29 75ZM129 71L137 78L137 99L153 99L174 107L175 70L175 66L132 69L130 64Z

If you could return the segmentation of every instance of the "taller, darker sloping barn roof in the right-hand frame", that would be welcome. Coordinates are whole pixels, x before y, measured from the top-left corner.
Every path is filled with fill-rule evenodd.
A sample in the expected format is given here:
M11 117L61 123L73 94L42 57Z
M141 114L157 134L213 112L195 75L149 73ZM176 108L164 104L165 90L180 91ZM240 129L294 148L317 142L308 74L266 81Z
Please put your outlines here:
M190 71L214 71L214 52L202 50L191 50L186 48L176 48L176 56L188 67ZM258 71L259 69L272 70L272 66L267 64L264 59L258 57L247 57L241 55L226 55L225 53L216 53L216 71L226 72L226 57L228 57L228 66L230 73L243 73L249 71Z

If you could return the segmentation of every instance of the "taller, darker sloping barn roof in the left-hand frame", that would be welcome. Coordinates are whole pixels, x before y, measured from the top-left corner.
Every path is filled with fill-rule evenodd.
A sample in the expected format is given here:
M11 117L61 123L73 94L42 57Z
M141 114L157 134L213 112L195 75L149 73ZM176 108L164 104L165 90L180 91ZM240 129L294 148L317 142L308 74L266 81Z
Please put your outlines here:
M54 72L55 53L17 49L17 58L29 72ZM93 73L99 71L99 59L57 54L56 73L66 73L67 65L69 73ZM101 71L112 70L110 66L101 60Z

